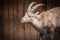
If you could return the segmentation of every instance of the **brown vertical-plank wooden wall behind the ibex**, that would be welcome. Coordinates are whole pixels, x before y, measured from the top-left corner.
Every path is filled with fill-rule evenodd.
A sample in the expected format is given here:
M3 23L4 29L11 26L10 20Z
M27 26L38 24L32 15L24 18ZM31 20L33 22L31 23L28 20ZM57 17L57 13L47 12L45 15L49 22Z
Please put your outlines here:
M55 0L3 0L0 6L1 35L3 40L39 40L39 32L30 24L22 24L20 19L24 16L31 2L44 3L39 11L60 6ZM37 9L38 10L38 9Z

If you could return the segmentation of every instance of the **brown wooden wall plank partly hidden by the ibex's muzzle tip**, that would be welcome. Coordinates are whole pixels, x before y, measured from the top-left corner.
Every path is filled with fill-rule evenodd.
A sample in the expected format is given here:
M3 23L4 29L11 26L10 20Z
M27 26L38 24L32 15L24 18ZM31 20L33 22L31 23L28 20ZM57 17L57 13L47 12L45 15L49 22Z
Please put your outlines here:
M18 0L18 16L17 16L18 17L18 40L24 40L24 37L25 37L24 36L25 30L23 29L24 25L20 22L22 14L24 14L23 3L24 3L23 0Z

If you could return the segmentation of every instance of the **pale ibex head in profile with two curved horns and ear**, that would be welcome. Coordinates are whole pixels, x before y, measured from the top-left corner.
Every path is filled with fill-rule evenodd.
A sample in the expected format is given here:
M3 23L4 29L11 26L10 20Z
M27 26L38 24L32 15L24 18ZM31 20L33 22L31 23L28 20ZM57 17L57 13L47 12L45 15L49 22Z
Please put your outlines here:
M25 23L25 22L32 22L34 19L36 19L36 17L38 17L39 12L34 13L34 10L38 7L38 6L43 6L44 4L37 4L34 7L32 7L36 2L32 2L28 8L27 8L27 12L25 13L25 16L21 18L21 22Z

